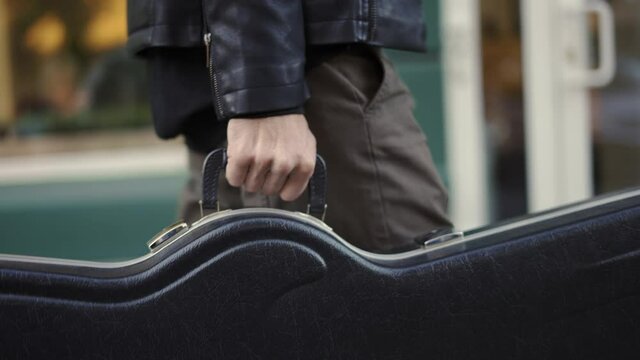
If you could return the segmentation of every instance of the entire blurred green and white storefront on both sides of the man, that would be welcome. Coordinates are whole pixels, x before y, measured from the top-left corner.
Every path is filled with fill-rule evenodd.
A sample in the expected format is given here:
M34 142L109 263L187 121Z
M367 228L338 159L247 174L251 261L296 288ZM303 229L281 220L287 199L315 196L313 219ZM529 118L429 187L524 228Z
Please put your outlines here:
M425 0L388 51L460 229L640 185L640 0ZM0 253L118 260L175 220L125 0L0 0Z

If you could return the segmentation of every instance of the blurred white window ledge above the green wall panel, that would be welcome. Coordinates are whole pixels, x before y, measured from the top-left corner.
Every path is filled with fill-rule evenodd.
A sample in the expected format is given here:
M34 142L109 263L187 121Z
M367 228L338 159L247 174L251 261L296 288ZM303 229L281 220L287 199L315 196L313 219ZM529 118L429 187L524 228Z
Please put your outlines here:
M149 130L0 142L0 185L175 175L186 166L180 140Z

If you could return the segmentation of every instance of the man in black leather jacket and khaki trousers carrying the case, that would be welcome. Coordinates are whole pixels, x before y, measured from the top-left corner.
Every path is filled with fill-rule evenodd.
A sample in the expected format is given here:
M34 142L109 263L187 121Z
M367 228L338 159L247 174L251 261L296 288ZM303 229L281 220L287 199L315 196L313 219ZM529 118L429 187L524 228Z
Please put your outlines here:
M394 252L451 227L411 96L379 49L424 50L421 14L420 0L129 0L156 131L190 149L182 214L197 219L202 162L226 141L224 208L304 209L317 149L326 222L347 241Z

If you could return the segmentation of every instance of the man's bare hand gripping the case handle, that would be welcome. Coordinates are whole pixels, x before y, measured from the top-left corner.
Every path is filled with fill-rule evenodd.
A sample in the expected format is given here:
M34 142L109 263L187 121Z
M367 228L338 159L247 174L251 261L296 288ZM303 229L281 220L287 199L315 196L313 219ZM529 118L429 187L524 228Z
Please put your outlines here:
M293 201L316 163L316 139L303 115L232 119L227 129L227 181Z

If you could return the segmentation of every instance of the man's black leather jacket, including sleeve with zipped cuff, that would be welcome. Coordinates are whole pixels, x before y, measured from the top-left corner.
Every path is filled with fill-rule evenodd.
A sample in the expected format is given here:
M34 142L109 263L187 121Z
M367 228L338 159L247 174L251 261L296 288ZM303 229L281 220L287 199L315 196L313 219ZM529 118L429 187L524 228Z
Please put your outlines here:
M128 14L137 54L208 48L220 120L301 106L309 45L425 46L421 0L129 0Z

